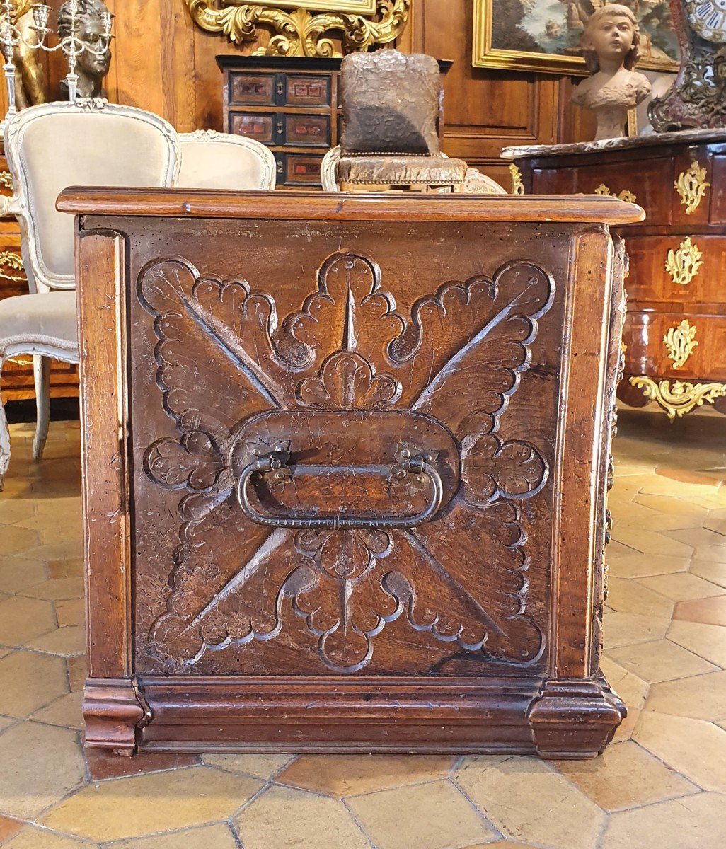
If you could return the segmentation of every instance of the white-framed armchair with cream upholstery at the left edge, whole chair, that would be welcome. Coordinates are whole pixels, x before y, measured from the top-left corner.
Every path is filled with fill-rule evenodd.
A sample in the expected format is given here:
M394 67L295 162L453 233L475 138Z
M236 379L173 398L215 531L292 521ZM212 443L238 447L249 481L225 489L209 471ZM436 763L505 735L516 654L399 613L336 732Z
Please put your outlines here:
M0 301L0 371L8 357L37 362L37 430L33 454L48 435L48 357L78 361L73 217L55 208L68 186L171 186L177 133L158 115L104 100L31 106L5 128L14 194L0 215L17 216L31 293ZM0 488L10 459L0 403Z

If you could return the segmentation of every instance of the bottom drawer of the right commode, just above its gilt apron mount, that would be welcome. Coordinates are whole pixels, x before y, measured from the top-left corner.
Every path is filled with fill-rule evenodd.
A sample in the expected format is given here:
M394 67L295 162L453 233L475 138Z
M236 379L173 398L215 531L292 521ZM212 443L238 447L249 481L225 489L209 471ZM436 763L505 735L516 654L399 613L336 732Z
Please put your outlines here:
M669 331L670 346L664 340ZM626 374L726 380L724 316L628 310L622 338ZM680 352L682 364L674 352Z

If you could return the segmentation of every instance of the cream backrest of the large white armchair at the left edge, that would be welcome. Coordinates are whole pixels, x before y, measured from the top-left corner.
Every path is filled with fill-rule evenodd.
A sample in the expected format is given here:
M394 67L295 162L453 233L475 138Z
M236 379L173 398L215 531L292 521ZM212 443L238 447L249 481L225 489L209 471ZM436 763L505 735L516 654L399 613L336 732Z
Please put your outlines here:
M13 176L8 211L20 222L23 260L38 291L72 289L73 217L55 208L68 186L169 187L177 133L158 115L100 99L31 106L5 128Z

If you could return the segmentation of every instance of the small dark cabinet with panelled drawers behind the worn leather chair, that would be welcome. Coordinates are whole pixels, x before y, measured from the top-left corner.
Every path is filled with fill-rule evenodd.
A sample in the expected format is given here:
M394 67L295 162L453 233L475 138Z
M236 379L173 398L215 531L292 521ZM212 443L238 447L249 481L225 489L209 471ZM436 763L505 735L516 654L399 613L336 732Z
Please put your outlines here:
M443 77L451 61L440 59ZM273 150L278 186L321 188L320 163L340 143L340 59L217 56L224 73L223 132ZM439 112L443 132L443 100Z

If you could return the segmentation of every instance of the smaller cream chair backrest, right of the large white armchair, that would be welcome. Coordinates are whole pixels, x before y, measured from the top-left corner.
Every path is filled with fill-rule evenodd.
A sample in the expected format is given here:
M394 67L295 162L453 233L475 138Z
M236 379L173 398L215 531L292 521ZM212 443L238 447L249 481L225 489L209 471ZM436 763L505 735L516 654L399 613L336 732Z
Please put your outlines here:
M197 130L179 135L182 164L177 188L275 188L273 152L254 138Z

